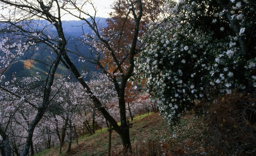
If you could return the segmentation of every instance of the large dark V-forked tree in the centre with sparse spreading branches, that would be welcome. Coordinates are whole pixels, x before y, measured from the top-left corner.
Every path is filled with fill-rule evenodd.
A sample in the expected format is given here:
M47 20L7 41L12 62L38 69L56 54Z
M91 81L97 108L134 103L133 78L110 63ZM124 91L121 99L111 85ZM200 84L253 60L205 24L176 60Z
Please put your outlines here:
M0 2L4 3L5 6L9 6L10 8L15 8L16 12L14 13L11 11L11 14L15 14L14 16L11 16L11 23L13 26L15 26L15 23L18 23L18 21L21 20L26 20L30 19L32 16L35 18L41 18L41 19L46 19L48 20L51 24L52 27L55 27L58 33L58 38L59 40L56 41L58 44L54 44L53 42L50 42L51 39L46 39L46 43L51 45L51 47L54 45L56 47L56 50L54 53L57 56L60 56L60 60L63 64L66 65L68 69L70 69L76 79L78 80L79 83L83 86L83 88L86 90L86 92L90 95L93 104L95 107L104 115L104 117L108 120L109 123L114 127L114 129L117 131L117 133L120 135L124 147L126 147L127 150L131 150L131 142L130 142L130 137L129 137L129 127L127 126L126 123L126 111L125 111L125 101L124 101L124 89L126 82L128 79L132 76L132 72L134 69L134 55L136 53L136 44L137 44L137 37L139 33L139 24L140 24L140 19L142 17L142 3L141 1L131 1L129 2L129 5L131 6L129 9L128 14L131 15L134 19L134 30L133 30L133 37L131 41L131 46L127 49L127 52L129 54L129 63L130 65L125 69L125 71L121 68L122 61L119 62L119 60L116 59L116 54L115 50L111 48L110 42L107 38L104 38L101 36L98 26L97 26L97 21L95 21L95 16L89 15L86 11L84 11L84 8L82 7L85 3L88 3L87 1L84 3L78 3L77 1L57 1L57 0L51 0L51 1L5 1L1 0ZM90 2L89 2L90 3ZM135 11L135 7L139 8L139 11ZM8 7L7 7L8 8ZM96 34L97 41L99 44L101 44L103 47L106 47L107 51L112 51L111 55L113 56L114 60L116 61L116 68L120 72L121 76L121 83L119 84L117 81L116 76L112 76L112 74L108 74L109 78L114 82L115 89L117 92L117 95L119 97L119 109L120 109L120 120L121 120L121 127L118 126L116 120L108 113L108 111L103 107L102 103L100 100L95 96L95 93L93 93L88 86L88 84L82 79L80 72L77 70L76 66L74 63L70 60L67 52L69 52L68 49L65 48L67 44L67 39L65 38L65 35L63 33L62 29L62 20L61 16L63 15L62 12L67 11L68 13L72 14L74 17L80 18L84 20L85 23L87 23L93 30L93 32ZM74 10L80 12L80 16L74 13ZM12 15L13 15L12 14ZM82 15L82 16L81 16ZM17 19L17 17L22 17ZM87 19L84 18L84 16L89 16L92 21L88 21ZM14 21L15 22L12 22ZM25 21L24 20L24 21ZM21 29L21 26L16 26L16 29ZM26 30L26 29L24 29ZM24 32L24 31L23 31ZM32 33L32 31L28 32L29 34ZM35 32L33 32L34 34ZM39 35L39 36L38 36ZM37 39L41 39L42 37L42 31L40 33L36 33L35 37ZM47 36L46 36L47 37ZM53 44L52 44L53 43ZM96 48L94 46L94 48ZM97 48L96 48L97 50ZM97 51L96 51L97 54ZM99 64L99 63L98 63ZM101 70L103 70L103 73L107 74L107 71L104 70L104 66L100 67Z

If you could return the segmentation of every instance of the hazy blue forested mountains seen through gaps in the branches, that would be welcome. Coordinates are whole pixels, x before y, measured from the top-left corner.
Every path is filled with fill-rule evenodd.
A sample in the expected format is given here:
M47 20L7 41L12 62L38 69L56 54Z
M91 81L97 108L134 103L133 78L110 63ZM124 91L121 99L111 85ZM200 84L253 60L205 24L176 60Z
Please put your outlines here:
M95 18L96 21L99 22L101 27L106 27L107 23L106 23L106 18ZM36 23L38 22L38 24L41 25L49 25L47 24L46 20L38 20L35 21ZM68 39L70 38L70 41L68 41L67 44L67 48L71 49L71 50L75 50L76 44L81 44L79 41L79 37L81 35L83 35L83 31L82 31L82 25L85 23L82 20L70 20L70 21L62 21L62 27L63 27L63 32L65 37ZM91 32L91 28L87 25L83 25L83 29L85 33L90 33ZM46 29L46 32L49 33L50 36L55 36L57 37L57 31L54 29ZM44 46L42 46L41 48L39 48L38 51L35 51L34 53L26 56L22 56L22 58L19 58L17 60L15 60L7 69L7 71L5 72L5 76L6 78L8 78L9 80L12 79L12 75L13 73L15 74L15 77L27 77L27 76L31 76L31 75L42 75L42 76L46 76L49 71L49 67L47 67L44 63L50 63L53 61L53 59L55 58L55 54L52 54L50 50L48 50L47 48L43 48ZM81 51L86 51L89 48L89 46L82 46L80 47ZM78 62L78 56L76 56L75 54L68 54L70 56L70 58L72 59L72 61L74 62L74 64L78 67L79 71L96 71L95 69L95 65L91 64L91 63L82 63L82 62ZM34 60L40 60L40 62L44 62L44 63L40 63ZM1 70L1 69L0 69ZM68 71L68 69L66 69L66 67L60 63L58 70L56 72L56 74L60 75L67 75L68 73L70 73Z

